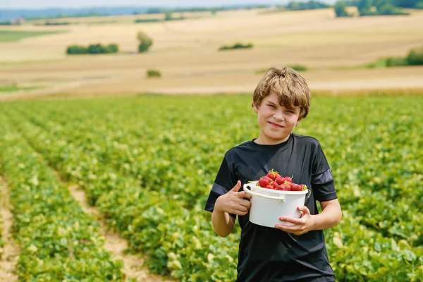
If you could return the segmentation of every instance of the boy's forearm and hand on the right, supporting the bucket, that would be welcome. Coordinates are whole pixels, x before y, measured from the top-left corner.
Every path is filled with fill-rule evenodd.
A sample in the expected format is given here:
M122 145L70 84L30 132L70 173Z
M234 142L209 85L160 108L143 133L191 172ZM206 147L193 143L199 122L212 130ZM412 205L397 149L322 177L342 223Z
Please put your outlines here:
M277 224L275 228L295 235L301 235L312 230L324 230L331 228L341 221L342 212L338 199L320 202L320 206L322 209L321 213L314 215L310 214L307 207L298 207L298 210L301 213L300 219L291 219L288 217L280 218L281 221L293 223L293 226L283 226Z

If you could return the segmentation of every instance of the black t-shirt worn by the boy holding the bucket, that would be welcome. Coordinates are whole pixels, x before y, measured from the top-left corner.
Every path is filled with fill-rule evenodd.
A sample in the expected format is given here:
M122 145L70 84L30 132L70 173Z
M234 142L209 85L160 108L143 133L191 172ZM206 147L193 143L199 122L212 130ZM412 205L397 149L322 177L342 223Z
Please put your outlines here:
M307 185L311 194L305 206L311 214L319 213L316 201L337 198L319 141L291 133L278 145L259 145L252 140L226 152L205 209L213 212L216 199L238 180L242 185L259 180L271 169L281 176L293 176L293 183ZM242 232L236 281L334 281L323 231L294 235L251 223L249 215L238 216Z

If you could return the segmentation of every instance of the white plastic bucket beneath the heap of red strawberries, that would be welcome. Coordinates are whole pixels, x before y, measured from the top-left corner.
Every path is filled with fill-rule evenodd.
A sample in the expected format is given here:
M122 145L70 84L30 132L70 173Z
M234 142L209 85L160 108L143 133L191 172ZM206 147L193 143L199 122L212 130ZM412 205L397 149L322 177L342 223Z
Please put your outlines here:
M250 221L260 226L275 227L276 224L293 225L280 221L279 218L299 219L301 214L297 207L305 203L304 191L281 191L261 188L257 182L244 184L244 191L251 194Z

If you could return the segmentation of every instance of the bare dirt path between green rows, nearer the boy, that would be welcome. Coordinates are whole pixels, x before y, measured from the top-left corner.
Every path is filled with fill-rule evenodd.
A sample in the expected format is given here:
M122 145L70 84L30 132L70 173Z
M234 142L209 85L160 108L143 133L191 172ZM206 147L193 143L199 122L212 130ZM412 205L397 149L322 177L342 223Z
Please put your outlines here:
M137 281L142 282L170 282L170 280L166 280L166 278L162 276L149 274L147 269L142 266L144 259L135 255L125 254L124 251L128 247L127 241L124 238L121 238L121 235L118 233L108 230L102 213L99 212L96 207L92 207L88 204L84 190L78 188L78 185L70 185L68 186L68 190L71 192L72 197L80 204L82 210L99 222L100 233L106 239L104 247L111 253L111 255L113 255L114 258L123 260L125 264L123 271L128 278L136 278Z

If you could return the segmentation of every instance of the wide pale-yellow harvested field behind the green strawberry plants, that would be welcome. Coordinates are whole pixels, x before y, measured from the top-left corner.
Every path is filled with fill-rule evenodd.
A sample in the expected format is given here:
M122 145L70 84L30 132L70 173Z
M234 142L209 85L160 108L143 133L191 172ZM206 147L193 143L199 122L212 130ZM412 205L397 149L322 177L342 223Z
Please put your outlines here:
M174 15L179 16L179 15ZM133 23L142 16L75 18L101 25L22 25L3 30L67 30L19 42L0 43L0 84L42 86L3 93L5 97L47 93L252 92L259 69L300 64L316 90L423 87L423 67L360 69L385 56L405 56L423 46L423 13L411 16L335 18L332 9L264 13L263 10L197 13L165 23ZM65 22L70 19L61 19ZM147 54L137 54L139 30L152 37ZM251 42L253 49L218 51L223 44ZM71 44L119 45L120 54L66 56ZM148 68L161 79L145 78Z

